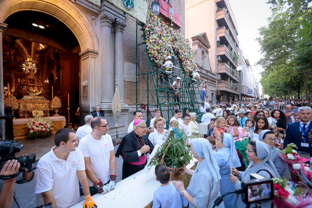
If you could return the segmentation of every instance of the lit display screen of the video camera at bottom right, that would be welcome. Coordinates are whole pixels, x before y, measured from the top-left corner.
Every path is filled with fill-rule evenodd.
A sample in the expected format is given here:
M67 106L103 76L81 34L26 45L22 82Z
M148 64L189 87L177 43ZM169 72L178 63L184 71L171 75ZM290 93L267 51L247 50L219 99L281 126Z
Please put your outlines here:
M248 186L248 202L256 202L271 198L271 183Z

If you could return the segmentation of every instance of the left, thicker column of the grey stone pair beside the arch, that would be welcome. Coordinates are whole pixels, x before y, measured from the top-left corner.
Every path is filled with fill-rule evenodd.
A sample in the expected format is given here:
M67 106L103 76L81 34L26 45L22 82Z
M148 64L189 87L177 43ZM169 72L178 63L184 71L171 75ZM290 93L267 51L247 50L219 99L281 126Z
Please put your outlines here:
M111 106L113 96L114 96L114 67L113 67L113 54L111 51L111 29L112 24L115 21L115 18L108 14L107 12L103 12L100 16L100 22L102 26L102 30L99 37L100 43L100 74L98 75L96 85L99 85L99 90L96 92L101 98L101 108L105 108ZM97 104L95 104L96 106Z

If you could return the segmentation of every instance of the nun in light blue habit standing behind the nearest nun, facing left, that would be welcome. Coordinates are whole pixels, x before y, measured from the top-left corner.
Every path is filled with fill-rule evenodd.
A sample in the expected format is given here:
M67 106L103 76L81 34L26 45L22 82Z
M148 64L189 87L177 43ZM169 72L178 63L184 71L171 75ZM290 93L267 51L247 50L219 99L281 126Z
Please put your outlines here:
M235 184L230 181L230 173L232 167L241 167L237 151L235 148L235 140L229 133L221 133L217 138L216 147L219 149L214 157L220 168L220 194L223 195L235 189ZM229 194L223 198L226 208L236 207L236 194Z

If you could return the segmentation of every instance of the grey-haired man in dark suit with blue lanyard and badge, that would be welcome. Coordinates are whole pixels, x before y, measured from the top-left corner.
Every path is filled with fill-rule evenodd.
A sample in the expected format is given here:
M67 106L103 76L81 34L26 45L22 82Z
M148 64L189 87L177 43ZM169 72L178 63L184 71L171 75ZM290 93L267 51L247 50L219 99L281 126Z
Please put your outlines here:
M288 124L284 148L289 143L294 143L297 145L298 151L309 152L310 156L312 156L312 146L308 138L308 133L312 129L311 113L312 109L308 106L298 109L300 121Z

